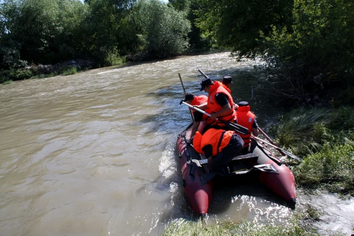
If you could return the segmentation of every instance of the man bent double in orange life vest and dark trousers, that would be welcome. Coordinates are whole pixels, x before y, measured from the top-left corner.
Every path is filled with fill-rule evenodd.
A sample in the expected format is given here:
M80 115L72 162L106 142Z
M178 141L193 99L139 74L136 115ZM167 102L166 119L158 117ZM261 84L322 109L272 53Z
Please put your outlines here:
M203 135L198 131L193 138L194 149L208 159L210 171L228 175L228 163L243 149L242 138L232 130L208 129Z

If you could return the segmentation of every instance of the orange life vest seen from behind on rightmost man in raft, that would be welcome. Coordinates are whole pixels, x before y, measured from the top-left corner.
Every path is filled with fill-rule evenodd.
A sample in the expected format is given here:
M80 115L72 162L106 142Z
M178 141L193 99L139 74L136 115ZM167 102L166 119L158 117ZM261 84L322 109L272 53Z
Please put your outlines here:
M237 123L239 125L248 128L247 134L244 135L239 133L240 137L242 137L243 139L244 142L243 147L245 148L248 147L249 141L251 139L252 125L254 122L255 115L252 112L250 112L249 106L238 107L236 113L237 113Z

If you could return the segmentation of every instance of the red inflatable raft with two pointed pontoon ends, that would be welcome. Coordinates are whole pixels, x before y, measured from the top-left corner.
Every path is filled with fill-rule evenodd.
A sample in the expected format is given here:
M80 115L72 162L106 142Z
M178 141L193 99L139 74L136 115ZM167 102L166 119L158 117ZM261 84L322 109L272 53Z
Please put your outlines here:
M184 197L198 217L205 217L212 198L213 182L205 182L205 168L200 164L201 156L187 145L191 136L192 124L182 131L176 143L183 176ZM203 161L202 161L203 162ZM251 152L236 156L230 163L231 175L228 178L247 176L259 182L279 197L295 207L295 180L289 168L277 159L258 141L251 141Z

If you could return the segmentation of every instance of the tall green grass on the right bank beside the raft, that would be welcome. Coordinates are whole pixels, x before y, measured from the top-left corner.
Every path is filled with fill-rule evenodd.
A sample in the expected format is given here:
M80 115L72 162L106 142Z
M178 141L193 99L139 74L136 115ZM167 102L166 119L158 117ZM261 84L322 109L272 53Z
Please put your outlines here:
M353 108L297 108L273 132L304 160L292 166L297 185L354 195Z

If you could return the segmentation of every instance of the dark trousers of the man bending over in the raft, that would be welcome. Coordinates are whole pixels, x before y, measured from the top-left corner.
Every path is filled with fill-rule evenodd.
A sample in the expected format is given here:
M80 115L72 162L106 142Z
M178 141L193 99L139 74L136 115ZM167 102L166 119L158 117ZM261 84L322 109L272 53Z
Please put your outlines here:
M243 140L238 134L234 133L231 136L229 145L212 159L210 171L219 175L228 175L228 163L236 157L242 149Z

